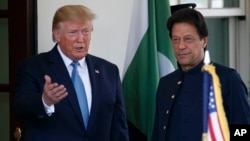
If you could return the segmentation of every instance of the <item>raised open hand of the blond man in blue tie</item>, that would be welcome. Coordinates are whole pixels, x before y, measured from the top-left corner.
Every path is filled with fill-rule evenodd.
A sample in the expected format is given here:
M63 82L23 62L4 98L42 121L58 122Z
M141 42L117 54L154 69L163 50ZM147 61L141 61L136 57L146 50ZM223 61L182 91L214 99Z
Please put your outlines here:
M61 101L68 95L67 89L64 85L58 85L58 83L51 83L51 78L48 75L44 76L45 83L43 87L43 100L50 106Z

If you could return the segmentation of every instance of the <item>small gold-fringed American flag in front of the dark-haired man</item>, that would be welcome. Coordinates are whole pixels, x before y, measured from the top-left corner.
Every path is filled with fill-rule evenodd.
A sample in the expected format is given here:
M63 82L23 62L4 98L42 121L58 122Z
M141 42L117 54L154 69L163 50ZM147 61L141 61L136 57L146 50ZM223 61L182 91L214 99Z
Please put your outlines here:
M230 132L224 112L219 77L215 66L203 66L203 134L202 141L229 141Z

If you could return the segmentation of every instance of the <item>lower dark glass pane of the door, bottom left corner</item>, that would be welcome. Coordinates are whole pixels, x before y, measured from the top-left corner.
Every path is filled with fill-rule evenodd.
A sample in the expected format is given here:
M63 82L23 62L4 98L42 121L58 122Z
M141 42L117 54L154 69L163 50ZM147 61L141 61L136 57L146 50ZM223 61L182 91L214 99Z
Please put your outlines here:
M9 141L9 93L0 92L0 138Z

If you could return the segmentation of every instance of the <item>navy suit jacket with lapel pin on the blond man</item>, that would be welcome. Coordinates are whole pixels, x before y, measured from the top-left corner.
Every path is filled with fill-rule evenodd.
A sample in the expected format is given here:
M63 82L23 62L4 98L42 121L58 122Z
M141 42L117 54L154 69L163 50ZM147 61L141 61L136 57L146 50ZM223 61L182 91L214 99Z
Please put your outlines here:
M30 57L17 70L15 111L25 122L25 141L127 141L128 129L119 71L116 65L88 54L92 106L87 129L73 83L56 48ZM42 103L44 75L63 84L68 96L48 116Z

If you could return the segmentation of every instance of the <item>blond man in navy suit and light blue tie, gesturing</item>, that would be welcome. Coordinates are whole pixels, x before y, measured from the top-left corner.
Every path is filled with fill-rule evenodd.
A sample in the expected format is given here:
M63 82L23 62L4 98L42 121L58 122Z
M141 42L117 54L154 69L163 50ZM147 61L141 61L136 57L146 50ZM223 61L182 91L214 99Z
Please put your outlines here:
M53 19L54 48L20 63L14 107L25 122L25 141L128 141L118 68L88 54L94 18L82 5L59 8ZM72 62L78 62L85 88L85 111L71 78ZM81 112L87 113L87 122Z

